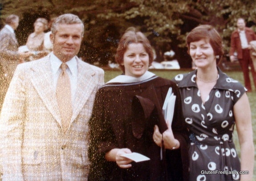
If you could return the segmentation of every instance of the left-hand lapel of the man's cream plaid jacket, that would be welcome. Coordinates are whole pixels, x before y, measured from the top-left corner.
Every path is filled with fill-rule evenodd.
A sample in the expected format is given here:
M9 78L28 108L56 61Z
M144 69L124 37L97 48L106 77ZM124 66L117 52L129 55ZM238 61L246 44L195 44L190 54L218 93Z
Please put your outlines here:
M37 60L38 61L38 60ZM39 60L41 61L41 60ZM41 97L42 101L45 103L45 106L57 122L61 125L61 116L59 113L59 108L57 104L56 93L53 85L53 74L51 71L51 64L49 61L49 56L43 60L43 64L38 64L34 66L31 71L32 75L32 84L34 85L37 93Z

